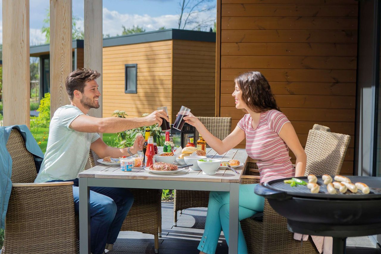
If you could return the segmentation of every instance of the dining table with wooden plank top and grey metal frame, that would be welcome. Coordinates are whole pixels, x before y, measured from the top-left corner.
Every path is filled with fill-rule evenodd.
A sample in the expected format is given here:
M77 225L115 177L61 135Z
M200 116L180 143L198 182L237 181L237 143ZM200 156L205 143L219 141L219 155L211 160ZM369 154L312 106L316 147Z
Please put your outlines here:
M158 148L159 153L162 147ZM243 166L237 167L236 174L231 169L218 169L215 175L204 175L202 171L186 167L175 174L154 174L143 167L122 171L120 166L100 164L78 175L79 178L79 230L80 254L90 254L90 186L150 188L169 190L229 191L229 254L238 253L238 200L240 178L246 168L248 155L244 149L232 149L219 155L207 148L207 158L228 161L239 160Z

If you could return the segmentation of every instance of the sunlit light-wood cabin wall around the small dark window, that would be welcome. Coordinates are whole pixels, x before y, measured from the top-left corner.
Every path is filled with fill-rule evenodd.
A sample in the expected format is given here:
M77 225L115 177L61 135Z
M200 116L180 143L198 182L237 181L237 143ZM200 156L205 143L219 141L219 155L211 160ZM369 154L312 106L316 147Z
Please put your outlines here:
M141 117L157 107L172 110L172 41L103 48L103 117L124 110ZM138 64L138 93L125 93L125 64Z

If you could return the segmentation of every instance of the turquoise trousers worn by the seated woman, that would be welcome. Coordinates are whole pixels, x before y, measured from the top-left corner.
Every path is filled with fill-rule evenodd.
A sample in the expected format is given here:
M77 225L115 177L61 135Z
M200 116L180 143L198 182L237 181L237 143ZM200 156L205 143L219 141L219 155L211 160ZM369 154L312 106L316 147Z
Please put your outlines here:
M263 212L264 198L254 193L257 184L240 184L239 186L239 220ZM221 230L224 231L227 245L229 245L229 192L211 191L209 195L207 221L199 249L207 254L216 252ZM241 225L238 229L238 253L247 254L247 246Z

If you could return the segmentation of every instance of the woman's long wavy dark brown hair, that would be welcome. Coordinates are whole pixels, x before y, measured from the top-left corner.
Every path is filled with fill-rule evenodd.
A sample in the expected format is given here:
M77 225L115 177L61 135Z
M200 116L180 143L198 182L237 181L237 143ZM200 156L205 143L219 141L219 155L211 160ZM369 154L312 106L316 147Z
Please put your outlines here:
M280 111L269 82L261 72L245 72L236 77L234 81L241 90L243 102L254 112L260 113L270 109Z

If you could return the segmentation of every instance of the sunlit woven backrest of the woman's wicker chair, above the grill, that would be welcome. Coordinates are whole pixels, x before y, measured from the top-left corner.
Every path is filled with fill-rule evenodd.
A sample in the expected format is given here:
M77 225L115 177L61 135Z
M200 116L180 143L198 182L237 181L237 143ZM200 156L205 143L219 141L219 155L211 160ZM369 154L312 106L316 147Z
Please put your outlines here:
M306 172L304 175L337 175L351 136L327 131L310 130L306 147Z

